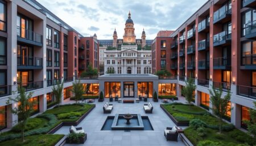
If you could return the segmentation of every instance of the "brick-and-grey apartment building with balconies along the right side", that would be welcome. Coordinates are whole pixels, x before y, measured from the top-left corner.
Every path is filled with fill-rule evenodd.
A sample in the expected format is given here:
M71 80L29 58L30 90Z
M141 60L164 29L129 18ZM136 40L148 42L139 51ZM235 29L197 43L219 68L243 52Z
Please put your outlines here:
M243 120L250 119L249 109L256 101L255 9L253 0L206 2L169 38L156 37L159 45L152 45L153 73L161 69L157 66L164 66L159 60L166 41L166 50L171 52L166 53L170 62L166 68L171 66L171 72L177 72L178 90L193 78L197 85L195 104L210 112L209 89L222 86L223 95L230 90L229 107L233 109L226 113L226 120L246 128Z

